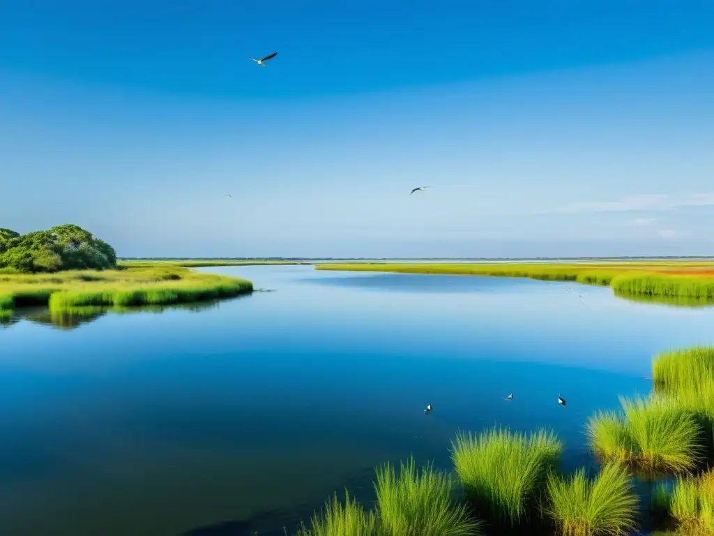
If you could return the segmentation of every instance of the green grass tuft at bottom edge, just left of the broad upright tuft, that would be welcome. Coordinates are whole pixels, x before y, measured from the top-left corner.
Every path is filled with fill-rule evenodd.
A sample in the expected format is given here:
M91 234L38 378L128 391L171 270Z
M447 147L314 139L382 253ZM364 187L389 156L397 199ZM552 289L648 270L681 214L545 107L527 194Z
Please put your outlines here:
M417 470L413 458L396 474L391 464L377 469L375 482L381 529L390 536L476 536L481 523L466 505L453 500L448 474L426 465Z

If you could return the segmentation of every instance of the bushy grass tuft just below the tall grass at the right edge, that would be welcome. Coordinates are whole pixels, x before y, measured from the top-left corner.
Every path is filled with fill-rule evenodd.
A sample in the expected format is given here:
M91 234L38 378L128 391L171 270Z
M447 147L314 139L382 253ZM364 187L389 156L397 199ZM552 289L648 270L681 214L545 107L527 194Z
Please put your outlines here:
M590 446L596 454L647 472L695 469L703 437L693 412L657 396L620 402L622 415L600 412L588 422Z

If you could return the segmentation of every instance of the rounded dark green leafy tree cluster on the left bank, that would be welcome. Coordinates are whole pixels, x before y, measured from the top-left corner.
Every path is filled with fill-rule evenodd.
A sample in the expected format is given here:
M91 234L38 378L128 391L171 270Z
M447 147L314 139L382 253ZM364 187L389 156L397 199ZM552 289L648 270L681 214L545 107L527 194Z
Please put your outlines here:
M13 272L116 268L109 244L77 225L19 234L0 228L0 269Z

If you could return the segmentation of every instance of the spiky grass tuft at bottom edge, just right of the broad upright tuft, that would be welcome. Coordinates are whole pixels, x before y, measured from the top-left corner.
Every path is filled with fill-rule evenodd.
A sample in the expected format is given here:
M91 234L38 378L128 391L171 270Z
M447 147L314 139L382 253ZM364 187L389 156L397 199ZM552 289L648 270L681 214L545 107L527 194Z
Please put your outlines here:
M636 530L638 497L618 462L606 464L594 480L580 469L571 477L548 477L545 514L563 536L620 536Z

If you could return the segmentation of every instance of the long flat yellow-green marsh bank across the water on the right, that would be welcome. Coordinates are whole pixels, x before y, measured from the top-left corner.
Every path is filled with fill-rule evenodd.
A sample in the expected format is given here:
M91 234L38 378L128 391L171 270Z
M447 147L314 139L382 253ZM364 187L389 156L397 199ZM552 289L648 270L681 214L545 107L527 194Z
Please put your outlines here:
M692 261L610 262L598 264L316 264L317 270L403 274L481 275L572 281L612 287L623 296L654 296L714 301L714 263ZM676 302L677 300L670 300Z

